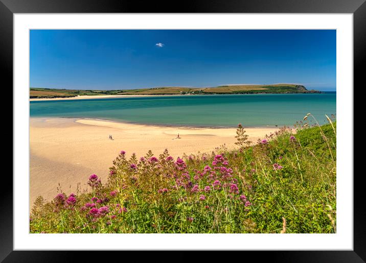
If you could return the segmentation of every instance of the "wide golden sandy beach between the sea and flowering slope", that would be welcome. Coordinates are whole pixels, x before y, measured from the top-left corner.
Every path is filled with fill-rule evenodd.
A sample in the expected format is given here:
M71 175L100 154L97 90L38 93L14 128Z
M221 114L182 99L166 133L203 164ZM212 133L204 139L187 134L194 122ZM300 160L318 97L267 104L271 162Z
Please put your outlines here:
M257 141L277 128L246 128ZM153 126L96 119L30 118L30 206L38 195L50 200L60 183L69 194L87 189L87 178L97 174L107 180L108 168L121 150L138 157L164 149L174 157L183 153L211 152L220 145L237 147L236 128ZM177 134L181 139L176 139ZM112 135L113 140L108 136Z

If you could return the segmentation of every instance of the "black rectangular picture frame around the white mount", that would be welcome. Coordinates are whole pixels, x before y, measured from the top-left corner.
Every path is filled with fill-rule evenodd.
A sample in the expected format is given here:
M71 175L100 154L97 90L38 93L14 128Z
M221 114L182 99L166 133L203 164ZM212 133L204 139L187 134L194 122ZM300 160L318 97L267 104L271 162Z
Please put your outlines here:
M13 85L13 14L14 13L352 13L354 41L354 87L363 88L366 58L366 3L365 0L201 0L124 1L124 0L0 0L0 65L3 83ZM353 94L354 94L354 87ZM355 97L354 97L355 98ZM4 106L3 106L4 108ZM9 111L9 108L7 108ZM5 109L4 109L4 112ZM353 129L354 130L354 129ZM6 131L7 138L12 137ZM354 133L354 138L356 137ZM13 138L13 143L16 138ZM353 144L353 141L350 141ZM13 151L12 151L13 152ZM350 153L353 154L353 153ZM10 156L10 154L8 154ZM12 155L13 156L13 155ZM10 158L10 157L8 157ZM245 258L254 254L271 261L291 262L365 262L366 261L366 209L363 196L363 173L350 174L354 179L354 250L352 251L245 251ZM7 177L4 178L4 177ZM74 251L13 251L13 185L7 174L2 178L0 195L0 260L4 262L68 262L76 261ZM7 187L5 187L7 186ZM108 253L108 257L116 252ZM122 252L126 253L126 252ZM174 257L184 256L177 252ZM213 254L214 255L214 254ZM94 258L94 253L83 253L83 261ZM126 258L126 254L124 254ZM205 256L206 258L206 256ZM207 259L207 258L206 258ZM243 259L244 260L244 259Z

